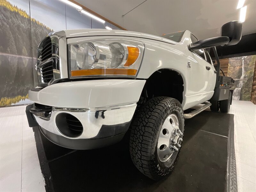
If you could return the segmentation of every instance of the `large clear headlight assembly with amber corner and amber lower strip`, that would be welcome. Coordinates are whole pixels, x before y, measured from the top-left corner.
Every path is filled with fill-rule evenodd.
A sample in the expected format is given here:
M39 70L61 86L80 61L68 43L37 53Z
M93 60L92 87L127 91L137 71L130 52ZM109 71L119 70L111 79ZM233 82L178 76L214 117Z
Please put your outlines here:
M136 76L143 49L143 43L132 40L69 44L70 77Z

